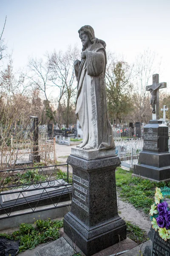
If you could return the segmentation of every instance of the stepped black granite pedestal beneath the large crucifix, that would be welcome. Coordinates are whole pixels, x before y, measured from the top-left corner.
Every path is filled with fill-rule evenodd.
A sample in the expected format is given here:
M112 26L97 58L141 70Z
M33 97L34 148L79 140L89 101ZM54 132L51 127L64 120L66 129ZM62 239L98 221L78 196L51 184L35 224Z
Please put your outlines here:
M150 120L144 126L144 147L138 164L133 166L133 176L154 181L170 180L170 153L168 151L168 126L161 120Z

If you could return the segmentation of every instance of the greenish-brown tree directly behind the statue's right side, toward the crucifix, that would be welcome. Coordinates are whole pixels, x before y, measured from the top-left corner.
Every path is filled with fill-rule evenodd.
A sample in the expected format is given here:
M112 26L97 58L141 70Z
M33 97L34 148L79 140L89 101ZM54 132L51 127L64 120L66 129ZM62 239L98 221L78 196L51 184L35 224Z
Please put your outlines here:
M106 66L106 97L108 102L108 115L113 120L122 122L122 119L132 110L131 95L128 93L132 87L130 83L132 68L125 61L117 61L113 54L108 54Z

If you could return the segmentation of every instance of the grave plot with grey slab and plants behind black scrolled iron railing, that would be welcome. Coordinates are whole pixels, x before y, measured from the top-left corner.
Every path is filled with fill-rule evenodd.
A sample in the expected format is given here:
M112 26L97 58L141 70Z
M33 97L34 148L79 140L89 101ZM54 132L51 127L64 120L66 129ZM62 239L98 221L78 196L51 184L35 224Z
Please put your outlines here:
M57 207L58 203L69 201L71 184L66 182L67 174L63 179L57 178L58 173L61 176L59 166L1 171L0 215L23 209L36 211L36 207L49 204Z

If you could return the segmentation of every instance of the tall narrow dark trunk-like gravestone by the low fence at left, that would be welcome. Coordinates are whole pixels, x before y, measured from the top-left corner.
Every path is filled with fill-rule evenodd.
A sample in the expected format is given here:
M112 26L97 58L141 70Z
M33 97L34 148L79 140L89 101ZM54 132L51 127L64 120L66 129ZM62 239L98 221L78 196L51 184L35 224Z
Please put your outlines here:
M35 163L40 163L40 154L38 151L38 117L30 116L31 119L31 137L33 142L32 154L30 154L30 160Z

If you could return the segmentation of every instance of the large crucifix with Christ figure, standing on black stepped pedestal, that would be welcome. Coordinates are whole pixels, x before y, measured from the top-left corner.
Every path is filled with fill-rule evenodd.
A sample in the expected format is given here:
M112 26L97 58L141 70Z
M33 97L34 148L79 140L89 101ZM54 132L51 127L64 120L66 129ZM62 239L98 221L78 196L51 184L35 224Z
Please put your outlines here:
M152 106L152 119L159 119L159 89L166 88L167 83L159 83L159 74L152 76L152 85L146 87L147 91L150 91L150 105Z

